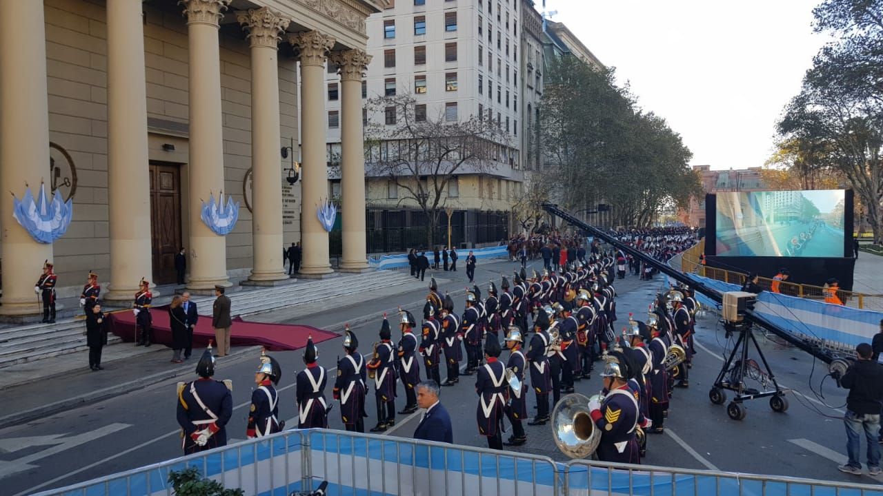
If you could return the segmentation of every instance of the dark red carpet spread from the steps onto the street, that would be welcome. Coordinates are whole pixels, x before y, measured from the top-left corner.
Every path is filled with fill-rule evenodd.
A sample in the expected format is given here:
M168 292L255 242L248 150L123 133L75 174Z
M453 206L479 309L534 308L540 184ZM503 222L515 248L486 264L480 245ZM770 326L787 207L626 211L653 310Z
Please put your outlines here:
M168 306L158 306L150 310L153 317L153 342L169 346L171 344L171 327L169 324ZM135 315L131 310L111 313L108 316L109 330L117 334L125 342L135 341ZM338 337L312 326L292 326L288 324L264 324L247 322L235 317L230 327L230 346L260 345L270 351L286 351L301 349L306 346L306 338L312 334L313 342L319 343ZM204 348L208 340L215 339L212 330L212 319L200 315L196 327L193 328L193 348Z

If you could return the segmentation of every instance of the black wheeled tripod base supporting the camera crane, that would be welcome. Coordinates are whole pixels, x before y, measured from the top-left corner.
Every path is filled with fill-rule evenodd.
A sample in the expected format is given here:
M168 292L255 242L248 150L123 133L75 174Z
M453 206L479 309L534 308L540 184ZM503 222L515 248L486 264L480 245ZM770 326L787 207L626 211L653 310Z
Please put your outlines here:
M773 370L770 368L769 363L766 362L764 352L760 349L758 340L754 337L754 331L751 327L751 322L747 321L724 323L724 328L727 330L727 337L734 333L738 333L739 337L736 338L736 345L733 346L733 350L730 351L729 357L724 362L723 367L721 367L721 372L718 373L717 380L714 380L714 386L711 391L708 392L708 399L716 405L722 405L727 402L726 391L733 391L736 393L733 401L729 402L727 405L727 415L733 420L742 420L748 415L748 410L745 409L743 402L756 400L758 398L769 398L770 408L775 412L781 413L788 410L788 399L785 398L786 391L779 386L778 382L776 382ZM748 358L750 342L754 344L754 349L757 350L760 360L766 368L766 374L763 371L758 370L758 372L762 375L765 374L766 378L773 383L774 389L772 390L759 391L758 389L745 387L744 379L746 375L749 375L751 372L750 360ZM753 360L751 360L751 362L752 361ZM755 368L757 368L756 364ZM761 384L766 386L766 380L764 380L764 377L761 377L760 379L751 379L761 380Z

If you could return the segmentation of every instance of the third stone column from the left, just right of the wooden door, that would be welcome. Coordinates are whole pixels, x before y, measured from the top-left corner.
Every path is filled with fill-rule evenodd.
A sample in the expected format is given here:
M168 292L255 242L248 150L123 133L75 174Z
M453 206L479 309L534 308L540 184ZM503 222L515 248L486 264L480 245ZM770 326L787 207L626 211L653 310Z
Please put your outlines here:
M221 59L218 22L230 0L182 0L187 16L190 92L190 280L200 292L227 280L227 243L202 222L200 207L208 195L223 191Z

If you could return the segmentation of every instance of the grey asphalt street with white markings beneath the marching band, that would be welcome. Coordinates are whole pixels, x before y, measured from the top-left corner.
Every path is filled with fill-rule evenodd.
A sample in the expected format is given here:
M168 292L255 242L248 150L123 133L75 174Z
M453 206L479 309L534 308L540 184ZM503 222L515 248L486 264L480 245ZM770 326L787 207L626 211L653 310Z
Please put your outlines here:
M500 274L511 275L517 264L507 261L481 263L476 282L487 295L487 282L493 277L499 282ZM534 262L531 268L541 268ZM436 274L442 292L449 290L454 297L457 312L462 312L463 291L467 285L465 273ZM426 278L426 283L429 279ZM629 312L643 319L647 305L656 291L661 289L662 278L653 282L640 282L629 276L625 281L617 281L617 332L624 326ZM499 285L499 284L498 284ZM354 325L352 331L358 336L360 351L371 352L371 344L377 340L382 312L389 313L390 323L396 328L396 307L405 308L419 315L426 289L411 290L397 296L372 299L368 295L354 294L347 301L332 301L321 312L298 318L298 324L342 331L343 322L369 321ZM399 334L394 331L394 340ZM708 390L722 364L722 350L731 341L724 337L722 327L709 315L698 323L698 355L694 357L691 370L691 387L675 390L670 416L666 422L667 432L651 436L648 442L649 453L645 463L683 467L689 469L712 469L761 474L775 474L790 477L811 477L827 480L874 483L875 478L867 475L857 477L836 470L836 465L845 458L845 432L841 421L845 391L837 390L832 380L825 380L818 398L811 389L819 392L819 382L825 375L824 364L796 349L783 348L775 342L767 342L762 336L758 339L767 359L774 367L777 379L793 388L788 399L790 408L786 413L775 413L767 400L754 400L747 403L748 417L743 421L733 421L727 417L725 406L713 405L708 400ZM331 369L336 366L336 358L343 355L340 338L322 342L320 364ZM201 350L194 350L198 357ZM128 383L139 379L143 360L147 354L128 358L129 362L114 366L112 370L81 374L80 383L69 381L64 387L85 395L95 387L93 377L102 377L107 383ZM163 357L165 354L162 354ZM290 419L288 425L296 425L291 420L295 415L293 377L303 367L300 351L277 352L273 354L282 365L283 380L280 383L282 401L281 416ZM507 353L503 353L506 357ZM753 352L752 352L753 355ZM228 436L233 440L245 439L247 407L253 387L253 372L257 366L258 351L249 350L233 357L220 358L217 364L217 379L232 379L233 417L228 425ZM754 356L757 358L756 356ZM155 358L149 358L155 359ZM158 364L157 364L158 366ZM182 369L192 370L195 362ZM596 367L598 372L598 367ZM445 371L442 369L442 380ZM157 380L151 385L139 386L131 393L115 395L100 402L91 402L79 408L71 408L37 417L25 423L0 429L0 484L4 494L18 496L50 487L69 485L94 477L102 477L122 470L135 469L152 462L160 462L181 455L180 438L175 421L175 382L194 377L192 373L180 378ZM88 380L85 380L88 378ZM463 377L457 386L442 388L442 402L453 417L454 440L457 444L487 447L487 441L480 437L475 426L475 408L478 398L475 395L473 378ZM53 379L33 381L16 388L3 391L8 394L26 397L26 391L34 397L42 397L46 403L52 402L47 395L47 382L63 381ZM600 378L593 374L592 380L577 382L577 392L592 395L600 390ZM401 393L401 387L399 387ZM326 394L331 397L331 386ZM29 396L28 396L29 397ZM404 407L404 394L396 402L397 410ZM831 409L824 403L836 408ZM163 406L164 405L164 406ZM532 406L532 398L529 399ZM17 409L16 402L4 401L4 410ZM840 409L840 410L838 410ZM375 424L374 395L368 395L366 427ZM5 413L5 411L4 411ZM419 412L399 423L389 435L411 437L419 422ZM343 427L339 409L331 411L329 426ZM552 456L564 460L555 448L549 425L527 427L529 442L519 451Z

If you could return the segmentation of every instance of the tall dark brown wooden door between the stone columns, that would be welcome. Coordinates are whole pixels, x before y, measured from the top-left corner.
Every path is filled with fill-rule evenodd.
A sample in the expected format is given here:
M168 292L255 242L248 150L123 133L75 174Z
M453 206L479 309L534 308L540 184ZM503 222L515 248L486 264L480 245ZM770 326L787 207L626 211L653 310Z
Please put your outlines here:
M181 248L181 169L176 164L150 163L150 232L153 281L176 282L175 254Z

